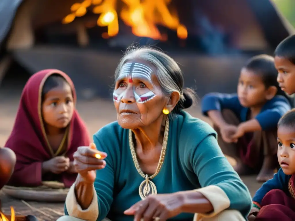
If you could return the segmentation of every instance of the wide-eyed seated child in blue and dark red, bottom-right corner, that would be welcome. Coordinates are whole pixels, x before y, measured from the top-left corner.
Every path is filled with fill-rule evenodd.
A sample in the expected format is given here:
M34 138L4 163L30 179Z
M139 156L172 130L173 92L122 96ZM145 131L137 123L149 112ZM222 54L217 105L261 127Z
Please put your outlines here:
M249 220L295 220L295 110L278 122L278 162L281 168L253 197ZM260 210L261 207L261 210ZM260 211L259 211L260 210Z

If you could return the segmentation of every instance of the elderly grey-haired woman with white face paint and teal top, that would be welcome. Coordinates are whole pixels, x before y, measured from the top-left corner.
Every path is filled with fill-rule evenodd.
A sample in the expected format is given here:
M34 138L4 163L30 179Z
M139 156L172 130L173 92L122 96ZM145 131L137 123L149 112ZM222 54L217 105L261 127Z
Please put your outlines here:
M194 94L183 89L176 62L154 49L133 49L115 80L118 121L74 154L79 174L65 202L69 216L59 221L245 220L250 193L216 132L182 110Z

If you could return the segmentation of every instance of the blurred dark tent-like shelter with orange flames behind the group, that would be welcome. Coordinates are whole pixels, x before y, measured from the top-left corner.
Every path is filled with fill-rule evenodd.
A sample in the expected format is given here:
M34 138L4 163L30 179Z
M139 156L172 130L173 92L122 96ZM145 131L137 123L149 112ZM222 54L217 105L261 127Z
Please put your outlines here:
M250 56L272 54L294 33L273 3L295 23L293 0L141 2L1 0L0 87L12 93L32 73L57 68L78 98L109 98L122 51L136 43L171 55L199 96L232 93Z

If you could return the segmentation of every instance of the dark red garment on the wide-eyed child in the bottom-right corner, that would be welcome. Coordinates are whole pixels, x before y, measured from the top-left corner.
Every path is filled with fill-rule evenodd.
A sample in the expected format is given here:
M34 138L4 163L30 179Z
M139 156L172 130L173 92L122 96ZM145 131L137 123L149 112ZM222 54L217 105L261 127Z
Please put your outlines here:
M294 179L292 175L289 181L289 192L293 197L280 189L269 191L261 201L261 209L255 220L295 220Z

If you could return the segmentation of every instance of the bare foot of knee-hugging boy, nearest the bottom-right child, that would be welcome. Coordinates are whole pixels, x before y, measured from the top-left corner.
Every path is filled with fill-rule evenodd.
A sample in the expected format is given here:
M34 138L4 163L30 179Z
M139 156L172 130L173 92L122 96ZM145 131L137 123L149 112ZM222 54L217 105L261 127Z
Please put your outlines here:
M256 177L257 182L266 182L269 179L273 178L274 174L274 157L273 156L265 156L263 159L263 165L259 172L259 174Z

